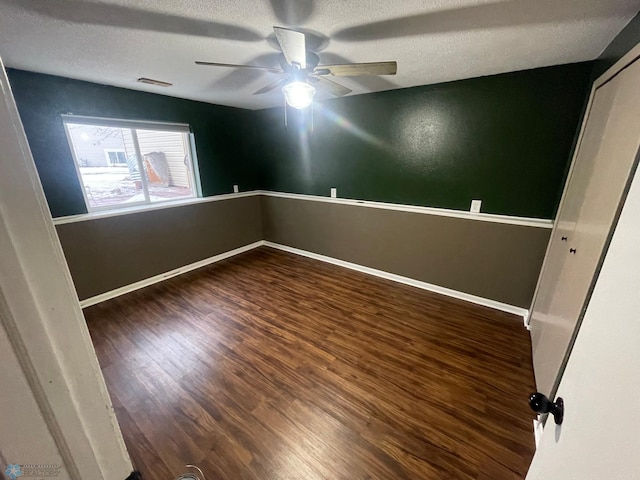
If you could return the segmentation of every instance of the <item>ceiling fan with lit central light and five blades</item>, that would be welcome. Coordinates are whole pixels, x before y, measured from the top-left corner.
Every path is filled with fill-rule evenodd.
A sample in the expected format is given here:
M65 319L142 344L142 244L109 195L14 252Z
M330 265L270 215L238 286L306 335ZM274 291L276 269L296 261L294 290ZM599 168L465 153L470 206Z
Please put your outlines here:
M282 54L278 60L280 67L260 67L255 65L233 65L229 63L196 62L197 65L214 67L244 68L279 73L284 76L265 85L254 95L282 88L285 100L293 108L302 109L311 105L316 92L314 85L341 97L351 93L351 89L329 80L328 76L350 77L357 75L395 75L396 62L348 63L342 65L318 65L318 54L309 50L303 32L283 27L273 27Z

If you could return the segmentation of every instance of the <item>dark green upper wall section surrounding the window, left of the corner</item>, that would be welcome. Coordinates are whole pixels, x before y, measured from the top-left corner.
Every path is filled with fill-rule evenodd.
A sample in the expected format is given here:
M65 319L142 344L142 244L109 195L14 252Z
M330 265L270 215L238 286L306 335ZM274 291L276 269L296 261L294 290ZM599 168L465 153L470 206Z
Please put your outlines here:
M259 187L247 152L251 111L95 83L8 70L31 152L54 217L86 213L61 114L188 123L205 196Z

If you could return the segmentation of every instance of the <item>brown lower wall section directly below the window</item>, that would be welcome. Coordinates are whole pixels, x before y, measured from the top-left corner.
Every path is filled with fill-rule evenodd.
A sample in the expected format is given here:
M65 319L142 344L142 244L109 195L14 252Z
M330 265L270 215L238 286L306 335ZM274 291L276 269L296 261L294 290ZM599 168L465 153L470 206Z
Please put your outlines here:
M260 197L56 226L80 300L262 240Z

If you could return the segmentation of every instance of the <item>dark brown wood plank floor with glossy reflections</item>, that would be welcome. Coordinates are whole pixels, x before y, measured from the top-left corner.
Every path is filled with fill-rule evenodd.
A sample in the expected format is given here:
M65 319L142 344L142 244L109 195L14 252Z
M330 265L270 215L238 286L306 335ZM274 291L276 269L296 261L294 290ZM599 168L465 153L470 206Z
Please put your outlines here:
M522 320L260 248L85 310L147 480L524 478Z

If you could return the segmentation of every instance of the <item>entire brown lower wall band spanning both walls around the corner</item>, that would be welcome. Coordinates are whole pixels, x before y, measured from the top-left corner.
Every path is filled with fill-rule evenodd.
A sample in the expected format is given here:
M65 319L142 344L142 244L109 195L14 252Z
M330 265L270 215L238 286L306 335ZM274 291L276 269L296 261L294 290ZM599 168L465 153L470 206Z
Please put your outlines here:
M80 300L264 239L522 308L551 233L265 195L56 229Z

